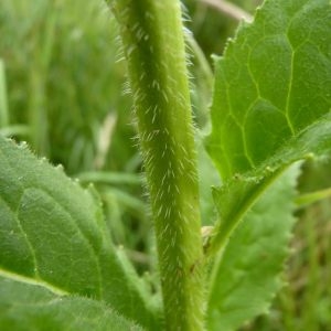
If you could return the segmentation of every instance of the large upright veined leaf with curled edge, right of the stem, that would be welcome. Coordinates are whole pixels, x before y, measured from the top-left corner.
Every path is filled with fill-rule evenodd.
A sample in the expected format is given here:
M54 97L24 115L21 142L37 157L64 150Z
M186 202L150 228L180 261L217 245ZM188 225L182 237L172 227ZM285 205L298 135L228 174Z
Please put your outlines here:
M329 0L267 0L216 60L206 146L224 185L210 252L289 164L330 156L330 45Z

